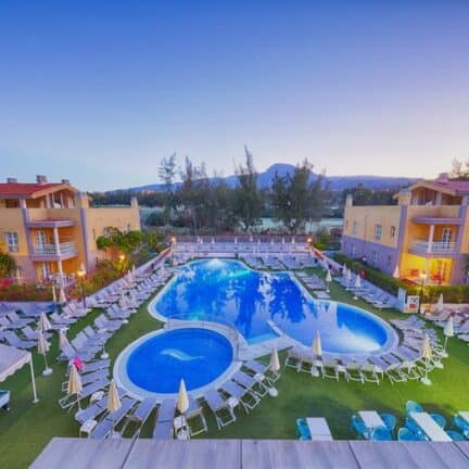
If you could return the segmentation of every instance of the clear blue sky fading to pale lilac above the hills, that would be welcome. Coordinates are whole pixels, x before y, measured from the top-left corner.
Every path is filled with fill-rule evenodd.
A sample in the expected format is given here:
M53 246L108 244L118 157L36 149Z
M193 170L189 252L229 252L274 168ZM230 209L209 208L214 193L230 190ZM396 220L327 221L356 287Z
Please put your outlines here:
M435 177L469 159L469 1L0 2L0 179Z

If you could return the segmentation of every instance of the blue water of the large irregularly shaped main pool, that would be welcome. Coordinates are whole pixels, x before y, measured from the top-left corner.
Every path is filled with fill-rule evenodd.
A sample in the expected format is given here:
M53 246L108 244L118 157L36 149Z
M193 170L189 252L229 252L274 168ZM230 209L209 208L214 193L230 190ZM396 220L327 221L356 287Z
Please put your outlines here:
M322 350L330 353L375 353L395 339L392 328L370 313L314 301L289 274L252 270L238 261L197 261L181 267L153 307L167 318L229 322L249 343L277 337L269 320L307 346L319 330Z

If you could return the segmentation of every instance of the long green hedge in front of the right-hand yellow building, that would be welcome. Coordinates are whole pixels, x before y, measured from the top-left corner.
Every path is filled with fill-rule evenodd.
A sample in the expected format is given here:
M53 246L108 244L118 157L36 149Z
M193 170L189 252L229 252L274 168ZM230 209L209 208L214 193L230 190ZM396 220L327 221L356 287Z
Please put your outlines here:
M375 267L364 264L360 259L353 259L342 253L334 253L332 257L340 264L345 264L354 272L365 271L365 277L371 283L380 289L397 295L398 289L402 288L408 294L420 294L422 291L422 301L427 303L435 303L441 293L443 293L446 303L469 303L469 286L426 286L423 290L419 286L411 286L402 280L383 274Z

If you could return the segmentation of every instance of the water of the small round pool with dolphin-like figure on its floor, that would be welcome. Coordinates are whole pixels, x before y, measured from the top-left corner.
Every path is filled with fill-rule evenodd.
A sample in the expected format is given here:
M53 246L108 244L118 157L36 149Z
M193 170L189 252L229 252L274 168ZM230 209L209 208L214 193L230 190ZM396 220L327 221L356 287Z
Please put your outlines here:
M201 329L176 329L144 340L126 363L128 379L154 393L177 393L185 380L188 391L201 388L231 364L230 342L218 332Z

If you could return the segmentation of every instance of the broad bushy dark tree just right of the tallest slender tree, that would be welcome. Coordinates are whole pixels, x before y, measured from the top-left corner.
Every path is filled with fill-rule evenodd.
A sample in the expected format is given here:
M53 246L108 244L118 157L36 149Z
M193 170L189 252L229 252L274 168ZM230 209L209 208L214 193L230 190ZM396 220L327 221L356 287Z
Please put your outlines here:
M324 175L312 178L313 165L305 160L296 165L293 174L274 176L271 202L274 216L295 233L303 230L307 221L320 218L325 208L326 188Z

